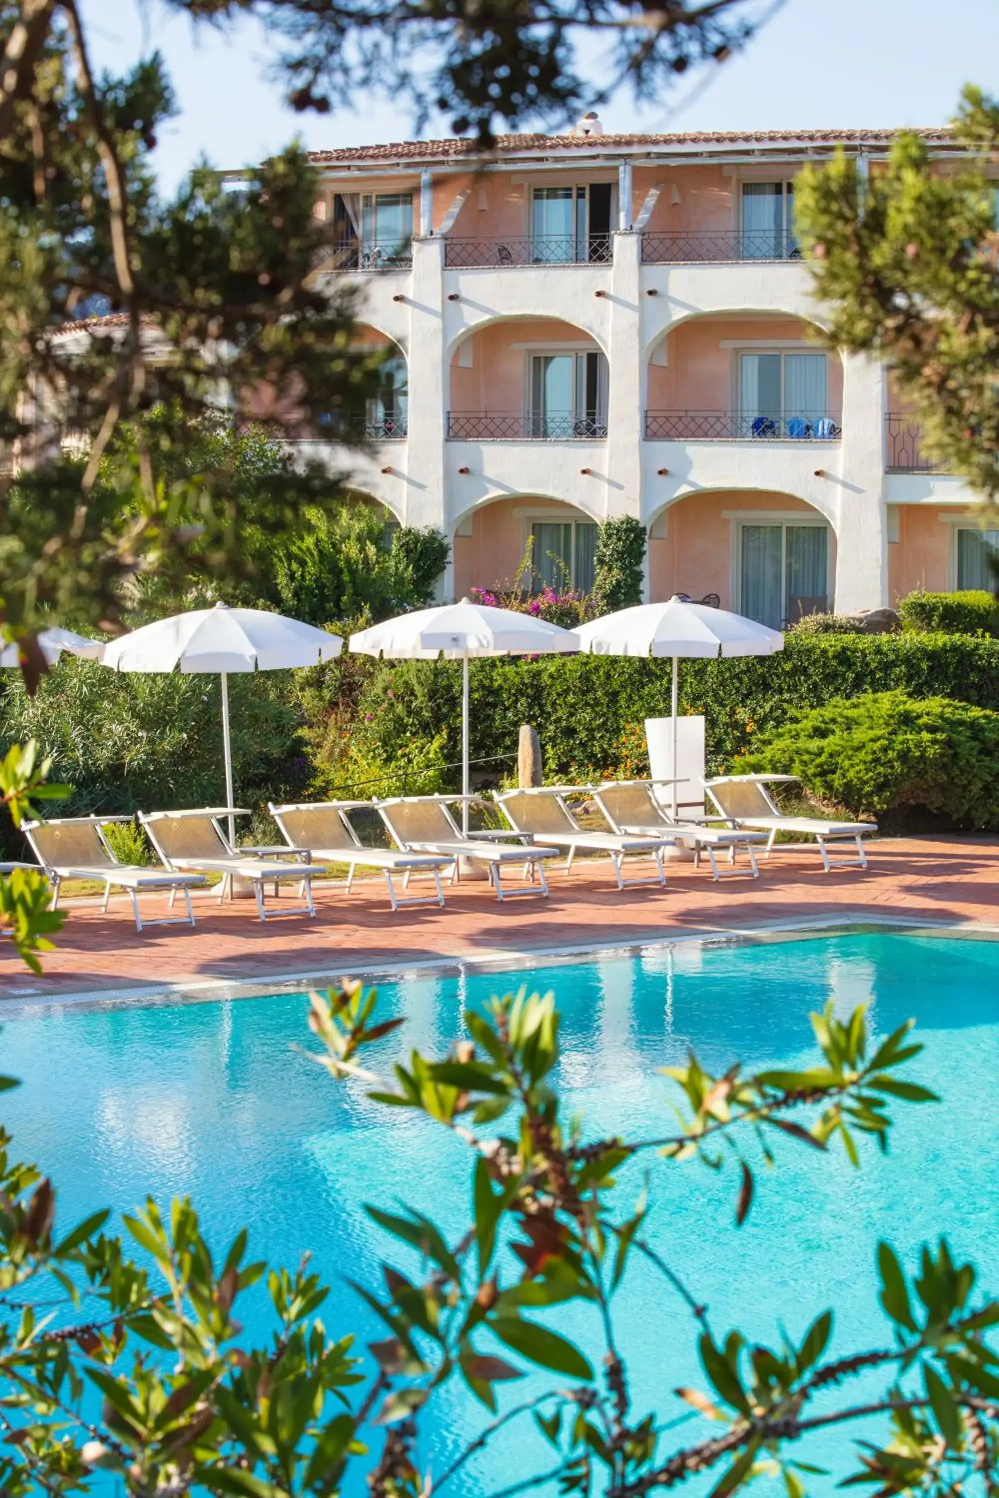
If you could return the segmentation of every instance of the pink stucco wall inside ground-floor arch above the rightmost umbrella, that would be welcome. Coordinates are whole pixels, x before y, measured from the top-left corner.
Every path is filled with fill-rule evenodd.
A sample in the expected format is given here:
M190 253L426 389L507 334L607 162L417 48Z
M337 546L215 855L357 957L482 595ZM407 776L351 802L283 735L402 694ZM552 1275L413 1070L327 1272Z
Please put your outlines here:
M723 518L725 511L785 511L815 515L810 505L789 494L765 493L711 493L692 494L680 499L666 511L666 535L662 536L662 521L653 524L649 541L649 584L652 601L672 598L674 593L689 593L704 598L717 593L722 608L732 608L732 521ZM765 523L765 521L764 521ZM836 539L830 535L833 571L836 565Z

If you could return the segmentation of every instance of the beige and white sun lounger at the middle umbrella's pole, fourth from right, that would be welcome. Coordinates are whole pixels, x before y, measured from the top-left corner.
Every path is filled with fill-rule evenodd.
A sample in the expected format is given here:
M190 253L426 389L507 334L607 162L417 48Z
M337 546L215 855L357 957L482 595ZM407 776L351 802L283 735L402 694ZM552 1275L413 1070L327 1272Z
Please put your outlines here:
M485 864L497 900L509 900L521 894L547 896L548 881L545 879L544 860L556 857L556 849L524 845L523 839L518 843L494 840L482 833L466 837L451 815L451 804L455 801L461 801L461 797L395 795L383 801L376 800L374 806L401 849L406 852L436 852L449 858L452 881L460 876L458 860L472 858ZM500 839L509 836L509 833L502 833ZM503 885L503 869L517 863L524 866L523 878L527 882ZM535 876L538 878L536 884Z

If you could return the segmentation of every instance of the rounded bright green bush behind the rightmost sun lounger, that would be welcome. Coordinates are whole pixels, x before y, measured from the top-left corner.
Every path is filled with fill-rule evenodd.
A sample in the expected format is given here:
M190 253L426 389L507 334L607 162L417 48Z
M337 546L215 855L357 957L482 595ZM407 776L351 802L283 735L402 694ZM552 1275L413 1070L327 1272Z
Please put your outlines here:
M827 703L732 768L797 774L819 800L885 827L929 815L950 827L999 830L999 713L947 697L881 692Z

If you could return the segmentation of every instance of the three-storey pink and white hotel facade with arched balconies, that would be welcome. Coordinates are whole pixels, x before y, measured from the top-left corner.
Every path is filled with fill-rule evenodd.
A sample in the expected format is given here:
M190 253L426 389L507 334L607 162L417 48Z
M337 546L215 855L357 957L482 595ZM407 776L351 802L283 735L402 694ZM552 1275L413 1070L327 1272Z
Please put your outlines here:
M960 151L926 132L941 171ZM977 587L999 536L935 472L891 373L816 339L794 180L890 132L500 138L321 151L331 288L385 346L353 487L452 544L443 596L593 581L596 526L647 529L646 596L771 625ZM333 436L333 433L331 433ZM324 455L327 443L304 443ZM328 443L331 461L341 458Z

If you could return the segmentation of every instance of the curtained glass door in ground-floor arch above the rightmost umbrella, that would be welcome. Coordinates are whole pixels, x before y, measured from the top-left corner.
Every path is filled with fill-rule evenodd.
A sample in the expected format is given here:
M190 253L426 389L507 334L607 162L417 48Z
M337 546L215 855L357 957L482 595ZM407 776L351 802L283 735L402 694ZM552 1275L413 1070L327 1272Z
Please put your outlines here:
M740 610L771 629L828 610L828 527L740 526Z

